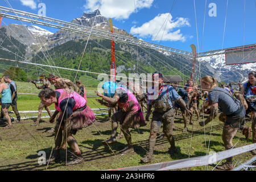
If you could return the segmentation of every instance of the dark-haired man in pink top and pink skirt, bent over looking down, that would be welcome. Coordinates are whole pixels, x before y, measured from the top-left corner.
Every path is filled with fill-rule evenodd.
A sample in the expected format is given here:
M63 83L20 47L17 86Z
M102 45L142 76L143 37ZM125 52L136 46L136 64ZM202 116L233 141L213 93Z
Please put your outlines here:
M47 163L60 160L60 150L66 149L66 142L75 154L75 159L68 161L67 165L82 163L84 160L81 151L72 135L95 121L92 109L86 105L86 100L80 94L71 89L46 88L39 93L39 97L43 105L55 104L56 111L49 122L53 123L56 115L60 113L55 126L55 152Z

